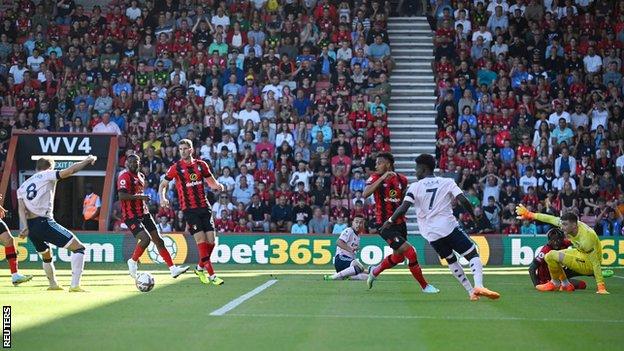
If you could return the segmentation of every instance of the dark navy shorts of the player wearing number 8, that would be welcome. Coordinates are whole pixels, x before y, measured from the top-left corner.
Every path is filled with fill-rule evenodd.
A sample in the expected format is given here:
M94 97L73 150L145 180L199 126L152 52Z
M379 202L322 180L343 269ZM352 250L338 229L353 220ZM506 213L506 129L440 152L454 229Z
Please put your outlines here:
M28 220L28 237L37 252L46 251L48 244L66 248L74 234L55 220L46 217L36 217Z

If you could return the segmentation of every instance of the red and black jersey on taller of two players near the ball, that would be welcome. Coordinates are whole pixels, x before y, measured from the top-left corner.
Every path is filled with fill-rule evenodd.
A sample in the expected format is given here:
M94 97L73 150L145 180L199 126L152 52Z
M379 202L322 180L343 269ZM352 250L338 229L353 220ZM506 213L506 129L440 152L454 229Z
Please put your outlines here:
M180 160L167 170L165 179L176 181L178 200L182 210L194 208L210 208L204 191L205 178L212 177L208 164L202 160L193 159L191 162Z

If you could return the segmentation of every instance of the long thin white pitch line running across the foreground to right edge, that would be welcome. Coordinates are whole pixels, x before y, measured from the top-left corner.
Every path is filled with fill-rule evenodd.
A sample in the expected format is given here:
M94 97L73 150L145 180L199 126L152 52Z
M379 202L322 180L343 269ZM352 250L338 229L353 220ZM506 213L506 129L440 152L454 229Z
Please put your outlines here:
M610 323L624 324L624 319L563 319L563 318L522 318L497 317L477 318L460 316L394 316L394 315L338 315L338 314L262 314L230 313L228 317L265 317L265 318L344 318L344 319L402 319L402 320L453 320L453 321L520 321L520 322L564 322L564 323Z

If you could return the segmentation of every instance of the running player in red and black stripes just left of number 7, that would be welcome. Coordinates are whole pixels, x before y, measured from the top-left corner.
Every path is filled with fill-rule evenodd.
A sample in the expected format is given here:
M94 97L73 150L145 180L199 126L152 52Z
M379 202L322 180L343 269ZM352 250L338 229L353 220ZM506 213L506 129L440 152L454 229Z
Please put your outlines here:
M366 188L362 194L364 198L374 194L375 221L378 226L381 227L388 220L388 216L399 207L406 189L407 178L394 172L394 156L387 152L378 154L375 160L375 173L366 180ZM373 287L373 282L381 272L396 266L407 258L409 270L420 284L422 291L432 294L440 292L433 285L428 284L423 277L418 265L416 250L407 241L405 216L397 216L387 226L380 228L379 235L390 245L393 253L384 258L381 264L368 268L366 283L369 289Z

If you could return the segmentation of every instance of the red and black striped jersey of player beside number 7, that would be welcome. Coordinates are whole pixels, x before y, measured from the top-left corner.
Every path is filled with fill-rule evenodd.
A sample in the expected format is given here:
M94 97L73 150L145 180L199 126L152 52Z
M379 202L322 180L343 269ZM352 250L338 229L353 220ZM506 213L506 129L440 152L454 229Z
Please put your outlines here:
M371 185L377 181L382 175L373 173L366 180L366 185ZM401 205L403 196L407 191L407 178L397 173L395 176L386 178L381 185L375 190L373 196L375 198L375 223L382 225L394 211ZM405 222L405 216L397 218L396 224Z

